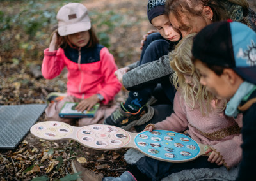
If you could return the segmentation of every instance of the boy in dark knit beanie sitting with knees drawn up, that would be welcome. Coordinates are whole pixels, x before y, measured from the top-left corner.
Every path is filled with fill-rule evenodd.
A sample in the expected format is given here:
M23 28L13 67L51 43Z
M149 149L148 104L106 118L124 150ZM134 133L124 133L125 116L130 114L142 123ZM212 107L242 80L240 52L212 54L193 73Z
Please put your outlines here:
M145 78L152 76L152 83L147 85L145 88L141 89L141 87L136 87L129 92L128 98L124 103L120 104L120 108L118 108L115 112L111 114L106 120L104 120L104 124L109 124L117 127L121 127L122 129L129 130L132 126L139 126L145 124L150 121L154 116L154 108L152 106L147 105L148 100L151 98L156 85L161 84L161 96L157 94L157 99L164 100L161 104L172 105L173 98L175 95L175 89L170 83L170 74L167 73L162 76L162 73L166 73L166 69L169 66L168 52L172 50L175 46L175 43L180 40L180 32L177 29L174 29L170 24L170 20L168 15L164 12L165 0L150 0L148 1L147 6L147 15L148 20L154 27L156 27L159 33L152 33L147 37L145 41L145 45L143 46L143 50L141 53L141 59L139 62L131 64L125 68L118 69L118 76L120 74L120 70L122 73L130 71L134 68L138 68L138 71L141 73L145 72L145 74L140 77L134 75L132 78L136 79L136 82L143 82ZM164 56L165 55L165 56ZM166 62L162 64L156 64L154 68L154 72L151 72L148 75L148 71L145 70L147 67L143 67L144 64L148 62L153 62L158 59L166 59ZM167 67L166 67L167 66ZM172 69L167 70L172 71ZM119 78L118 78L119 79ZM131 80L133 83L134 81ZM166 110L166 116L171 114L172 110L170 106ZM165 117L163 117L164 119ZM162 119L159 119L162 120ZM144 126L145 127L145 126ZM144 128L143 127L143 128Z

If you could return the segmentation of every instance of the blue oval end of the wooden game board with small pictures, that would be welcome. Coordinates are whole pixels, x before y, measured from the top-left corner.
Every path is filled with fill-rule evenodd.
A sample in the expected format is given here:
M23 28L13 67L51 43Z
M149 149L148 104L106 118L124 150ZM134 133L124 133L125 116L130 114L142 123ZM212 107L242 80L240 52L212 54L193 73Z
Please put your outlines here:
M200 154L200 147L196 141L173 131L144 131L134 138L134 143L141 152L166 161L188 161Z

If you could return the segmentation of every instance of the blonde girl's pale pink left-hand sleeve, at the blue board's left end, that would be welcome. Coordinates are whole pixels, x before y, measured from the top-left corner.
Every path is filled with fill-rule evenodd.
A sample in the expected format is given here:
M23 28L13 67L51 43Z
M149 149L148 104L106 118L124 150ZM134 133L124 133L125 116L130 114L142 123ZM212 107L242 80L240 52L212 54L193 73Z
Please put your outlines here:
M173 110L174 112L172 115L155 124L156 129L170 130L179 133L188 129L186 107L184 105L184 99L181 98L179 90L176 92L174 97Z

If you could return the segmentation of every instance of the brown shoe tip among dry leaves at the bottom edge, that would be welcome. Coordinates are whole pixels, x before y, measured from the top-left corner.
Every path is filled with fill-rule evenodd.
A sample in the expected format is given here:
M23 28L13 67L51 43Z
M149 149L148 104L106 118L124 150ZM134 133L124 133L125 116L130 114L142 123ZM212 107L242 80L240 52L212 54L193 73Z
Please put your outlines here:
M71 168L73 173L79 173L81 178L78 178L77 181L101 181L103 179L102 173L95 173L88 170L88 168L83 167L81 163L76 160L73 160L71 163Z

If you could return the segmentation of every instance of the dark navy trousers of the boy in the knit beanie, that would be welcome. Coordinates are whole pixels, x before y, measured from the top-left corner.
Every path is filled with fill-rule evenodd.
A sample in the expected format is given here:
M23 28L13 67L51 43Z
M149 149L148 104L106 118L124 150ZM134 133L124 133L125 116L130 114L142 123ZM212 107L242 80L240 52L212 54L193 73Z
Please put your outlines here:
M141 52L140 64L146 64L158 60L163 55L168 55L168 52L173 47L173 43L165 40L160 33L152 33L148 35L147 40L144 42L143 50ZM142 89L131 90L129 94L133 94L133 91L143 92L143 95L150 99L154 96L157 99L157 103L154 104L155 114L150 122L141 126L135 126L136 131L142 131L149 123L156 123L164 120L167 116L170 116L173 112L173 99L175 96L175 88L170 82L170 75L158 78L147 82L147 86L141 86Z

